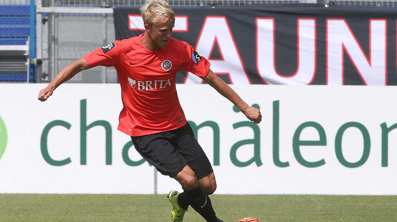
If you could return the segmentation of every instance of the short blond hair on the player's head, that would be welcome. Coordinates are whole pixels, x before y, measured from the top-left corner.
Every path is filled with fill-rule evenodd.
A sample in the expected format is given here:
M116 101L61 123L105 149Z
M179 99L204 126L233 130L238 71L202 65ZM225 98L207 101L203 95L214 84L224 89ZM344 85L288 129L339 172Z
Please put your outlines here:
M167 17L164 21L167 25L175 22L175 12L165 0L146 0L139 10L141 10L144 24L153 26L161 15Z

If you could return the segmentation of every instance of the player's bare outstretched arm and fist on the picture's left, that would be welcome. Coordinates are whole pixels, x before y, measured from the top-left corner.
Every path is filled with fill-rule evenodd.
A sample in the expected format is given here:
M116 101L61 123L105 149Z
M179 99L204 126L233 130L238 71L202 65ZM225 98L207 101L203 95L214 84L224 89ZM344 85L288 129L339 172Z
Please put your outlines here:
M77 73L79 73L82 70L89 69L91 67L88 66L87 62L85 61L84 57L79 58L78 60L75 60L71 64L67 65L65 68L63 68L58 75L51 81L50 84L45 89L42 89L39 93L39 100L44 102L45 100L48 99L52 95L52 92L60 86L62 83L68 81L71 79L73 76L75 76Z

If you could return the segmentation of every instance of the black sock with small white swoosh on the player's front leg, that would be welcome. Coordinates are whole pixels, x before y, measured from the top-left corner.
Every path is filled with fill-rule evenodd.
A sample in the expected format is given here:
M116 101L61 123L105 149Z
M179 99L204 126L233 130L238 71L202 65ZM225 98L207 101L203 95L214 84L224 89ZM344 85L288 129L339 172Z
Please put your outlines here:
M183 193L189 205L195 209L207 222L223 222L215 216L214 208L212 208L210 197L207 193L197 186L195 189L183 188ZM179 196L178 196L179 199Z

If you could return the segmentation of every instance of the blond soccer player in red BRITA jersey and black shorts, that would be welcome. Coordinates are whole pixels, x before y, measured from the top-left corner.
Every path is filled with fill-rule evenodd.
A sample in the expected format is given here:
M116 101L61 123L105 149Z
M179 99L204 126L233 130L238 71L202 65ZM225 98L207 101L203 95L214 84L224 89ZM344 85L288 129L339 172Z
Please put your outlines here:
M81 70L114 66L123 101L118 129L131 136L145 160L182 185L183 193L171 191L168 195L173 205L172 221L182 222L190 205L206 221L222 222L208 197L216 189L212 166L177 98L177 71L187 70L202 78L254 123L258 124L262 116L211 71L206 58L187 42L171 38L175 14L166 1L148 0L141 13L145 33L115 41L67 65L40 91L39 100L47 100L59 85Z

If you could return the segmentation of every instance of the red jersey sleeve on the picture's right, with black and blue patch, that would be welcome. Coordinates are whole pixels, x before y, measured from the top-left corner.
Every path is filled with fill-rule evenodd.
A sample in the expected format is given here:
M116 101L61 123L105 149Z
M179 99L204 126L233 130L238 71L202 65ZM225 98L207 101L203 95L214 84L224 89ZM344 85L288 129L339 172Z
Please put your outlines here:
M200 78L206 77L208 71L210 70L210 62L203 56L201 56L196 50L189 45L187 42L185 43L185 56L187 61L184 64L184 69L189 71Z

